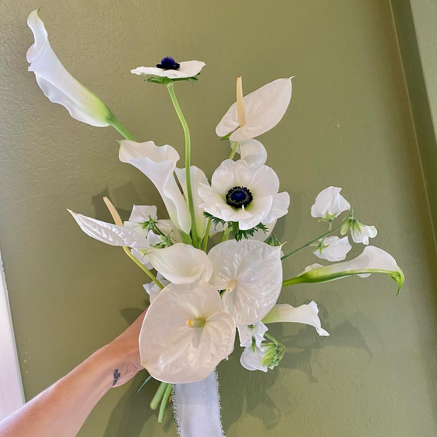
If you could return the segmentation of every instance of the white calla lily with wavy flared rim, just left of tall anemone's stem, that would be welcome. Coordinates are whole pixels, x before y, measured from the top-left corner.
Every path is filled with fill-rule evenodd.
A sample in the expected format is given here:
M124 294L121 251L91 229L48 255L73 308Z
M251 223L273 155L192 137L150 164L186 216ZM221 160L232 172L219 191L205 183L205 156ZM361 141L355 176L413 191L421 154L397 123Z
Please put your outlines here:
M120 141L119 158L141 170L155 185L174 225L190 233L191 217L182 193L174 178L179 160L177 151L168 144L156 146L153 141Z

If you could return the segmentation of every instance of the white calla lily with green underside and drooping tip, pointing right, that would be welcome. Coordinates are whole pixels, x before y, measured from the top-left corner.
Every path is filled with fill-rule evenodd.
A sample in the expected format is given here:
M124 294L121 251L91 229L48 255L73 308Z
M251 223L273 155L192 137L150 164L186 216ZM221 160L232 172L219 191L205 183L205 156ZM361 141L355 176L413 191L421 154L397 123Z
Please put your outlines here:
M357 274L361 277L368 277L372 273L388 274L398 284L398 294L404 283L404 274L395 259L385 250L375 246L367 246L363 253L356 258L343 263L322 266L312 264L295 278L284 281L285 285L299 284L304 282L316 283L327 282L341 277Z

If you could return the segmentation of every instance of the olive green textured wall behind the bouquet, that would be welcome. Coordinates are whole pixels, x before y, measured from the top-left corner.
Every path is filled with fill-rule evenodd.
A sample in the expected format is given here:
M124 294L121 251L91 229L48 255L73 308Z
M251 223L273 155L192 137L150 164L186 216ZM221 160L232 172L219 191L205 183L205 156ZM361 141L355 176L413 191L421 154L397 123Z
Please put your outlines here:
M165 212L149 180L118 161L117 132L70 118L26 71L33 41L26 18L38 6L73 76L138 139L167 142L182 155L165 88L129 70L163 55L205 61L195 87L179 83L177 94L192 162L208 176L229 154L214 128L234 101L236 75L246 93L295 75L287 114L260 137L291 196L275 233L290 250L321 233L310 207L321 189L340 186L357 218L377 226L372 243L404 270L398 298L380 275L284 289L280 302L316 300L331 336L272 326L287 347L278 368L249 373L239 350L221 363L229 437L437 435L436 252L388 0L2 2L0 244L26 398L114 338L146 304L144 274L121 249L83 234L66 208L110 220L106 194L123 218L132 204ZM284 275L316 261L310 252L291 257ZM111 390L79 435L176 435L170 415L161 427L148 408L156 383L135 394L142 378Z

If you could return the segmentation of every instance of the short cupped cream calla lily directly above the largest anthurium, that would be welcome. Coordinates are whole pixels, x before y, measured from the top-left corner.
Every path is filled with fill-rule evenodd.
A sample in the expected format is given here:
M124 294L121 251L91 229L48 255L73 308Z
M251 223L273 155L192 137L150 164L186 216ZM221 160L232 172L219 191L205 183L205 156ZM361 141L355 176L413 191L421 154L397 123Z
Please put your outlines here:
M198 279L209 281L212 264L208 255L200 249L177 243L164 249L151 248L147 257L153 267L174 284L188 284Z

